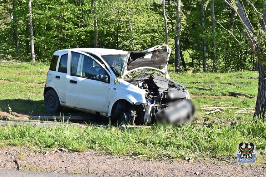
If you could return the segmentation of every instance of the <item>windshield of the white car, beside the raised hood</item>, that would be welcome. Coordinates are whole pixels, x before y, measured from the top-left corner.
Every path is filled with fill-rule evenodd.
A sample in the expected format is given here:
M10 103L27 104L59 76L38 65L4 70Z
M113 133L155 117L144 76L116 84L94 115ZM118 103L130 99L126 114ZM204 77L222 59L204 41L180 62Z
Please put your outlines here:
M116 75L122 71L126 55L102 55L102 57L111 66L111 70Z

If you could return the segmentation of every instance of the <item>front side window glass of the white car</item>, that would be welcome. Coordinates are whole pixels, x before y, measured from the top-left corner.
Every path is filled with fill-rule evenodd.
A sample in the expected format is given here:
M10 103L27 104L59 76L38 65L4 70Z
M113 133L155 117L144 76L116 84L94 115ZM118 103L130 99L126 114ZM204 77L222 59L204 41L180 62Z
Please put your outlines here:
M103 67L101 67L91 57L77 52L71 52L71 75L99 80L100 74L109 77ZM110 79L108 79L108 81L109 80Z

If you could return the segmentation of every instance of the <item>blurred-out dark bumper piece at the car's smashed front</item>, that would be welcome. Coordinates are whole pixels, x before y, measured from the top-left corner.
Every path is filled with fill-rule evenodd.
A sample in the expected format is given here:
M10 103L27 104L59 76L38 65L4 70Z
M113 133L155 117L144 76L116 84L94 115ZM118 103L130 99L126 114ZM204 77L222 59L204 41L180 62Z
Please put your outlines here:
M173 103L167 108L158 110L156 121L161 123L181 124L185 123L194 117L195 106L191 100L184 100L178 103Z

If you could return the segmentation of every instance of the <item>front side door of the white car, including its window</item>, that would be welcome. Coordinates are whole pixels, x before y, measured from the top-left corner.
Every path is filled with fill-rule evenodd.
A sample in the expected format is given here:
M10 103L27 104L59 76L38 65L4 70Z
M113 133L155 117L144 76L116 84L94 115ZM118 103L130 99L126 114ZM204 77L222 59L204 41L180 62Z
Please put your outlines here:
M66 75L66 106L107 113L109 106L110 72L94 57L69 50ZM108 81L98 78L108 76Z

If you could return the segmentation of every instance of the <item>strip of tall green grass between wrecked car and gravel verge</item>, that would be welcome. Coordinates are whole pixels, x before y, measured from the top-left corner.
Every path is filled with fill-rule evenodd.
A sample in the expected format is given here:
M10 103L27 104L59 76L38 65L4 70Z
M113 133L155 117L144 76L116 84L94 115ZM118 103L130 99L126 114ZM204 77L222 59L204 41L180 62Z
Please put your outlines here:
M236 145L253 142L265 152L266 122L242 117L237 123L209 121L185 126L150 128L116 126L78 128L75 126L33 127L31 125L0 127L0 145L36 145L66 148L73 151L98 150L112 155L147 155L150 158L232 156ZM256 122L257 121L257 122Z

